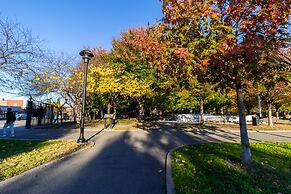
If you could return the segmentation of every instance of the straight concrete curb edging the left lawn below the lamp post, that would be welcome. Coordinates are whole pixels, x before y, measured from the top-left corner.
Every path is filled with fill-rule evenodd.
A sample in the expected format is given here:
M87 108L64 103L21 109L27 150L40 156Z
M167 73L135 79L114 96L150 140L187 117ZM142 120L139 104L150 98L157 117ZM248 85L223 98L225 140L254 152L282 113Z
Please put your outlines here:
M6 184L9 184L10 182L13 182L15 179L19 179L21 177L29 176L31 173L33 173L33 172L35 172L37 170L40 170L40 169L49 168L53 164L56 164L56 163L58 163L60 161L63 161L63 160L67 160L67 159L69 159L69 158L71 158L71 157L73 157L73 156L75 156L75 155L77 155L77 154L79 154L79 153L81 153L81 152L83 152L83 151L95 146L95 143L93 141L90 141L90 143L92 143L92 146L88 146L88 147L82 148L82 149L77 150L75 152L72 152L70 154L64 155L61 158L57 158L57 159L49 161L47 163L43 163L42 165L36 166L36 167L34 167L32 169L24 171L21 174L18 174L18 175L12 176L10 178L7 178L7 179L5 179L3 181L0 181L0 188L1 188L1 186L5 186Z

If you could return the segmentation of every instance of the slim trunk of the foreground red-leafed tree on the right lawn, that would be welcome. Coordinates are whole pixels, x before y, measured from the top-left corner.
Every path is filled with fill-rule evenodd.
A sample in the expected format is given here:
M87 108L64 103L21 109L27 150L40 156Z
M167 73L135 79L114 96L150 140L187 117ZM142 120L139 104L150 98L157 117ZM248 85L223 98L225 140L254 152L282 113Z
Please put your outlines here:
M242 87L237 86L237 106L239 112L239 127L240 127L240 137L242 146L242 161L244 163L250 163L252 161L252 154L250 149L250 142L247 132L246 116L245 116L245 106L243 101Z

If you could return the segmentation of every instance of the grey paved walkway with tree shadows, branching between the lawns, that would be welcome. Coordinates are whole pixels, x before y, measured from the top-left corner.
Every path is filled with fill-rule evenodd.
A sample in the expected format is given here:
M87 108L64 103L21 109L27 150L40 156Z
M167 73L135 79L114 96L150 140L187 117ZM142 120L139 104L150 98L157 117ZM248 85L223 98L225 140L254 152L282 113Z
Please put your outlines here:
M78 130L35 130L31 139L76 139ZM0 182L0 193L165 193L165 159L174 147L198 143L240 141L239 132L185 131L171 126L147 131L86 132L95 146L47 167ZM291 141L291 132L250 132L252 141ZM28 138L28 133L16 138Z

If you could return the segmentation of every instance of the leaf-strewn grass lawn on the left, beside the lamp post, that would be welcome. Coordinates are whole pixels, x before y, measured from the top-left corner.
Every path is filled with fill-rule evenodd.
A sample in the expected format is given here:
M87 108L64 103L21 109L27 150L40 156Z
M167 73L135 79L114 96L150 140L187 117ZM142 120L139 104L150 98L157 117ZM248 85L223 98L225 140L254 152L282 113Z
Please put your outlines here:
M0 181L85 146L75 141L0 140Z

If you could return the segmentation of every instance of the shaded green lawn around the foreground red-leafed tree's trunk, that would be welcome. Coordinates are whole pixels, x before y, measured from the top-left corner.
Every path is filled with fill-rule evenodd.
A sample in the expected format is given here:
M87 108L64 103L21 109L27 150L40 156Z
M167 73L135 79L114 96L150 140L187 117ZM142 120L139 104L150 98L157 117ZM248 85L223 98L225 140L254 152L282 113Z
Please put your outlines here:
M177 194L291 193L291 143L252 143L243 164L238 143L185 146L172 154Z

